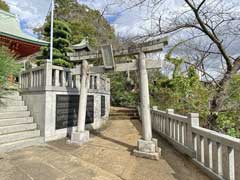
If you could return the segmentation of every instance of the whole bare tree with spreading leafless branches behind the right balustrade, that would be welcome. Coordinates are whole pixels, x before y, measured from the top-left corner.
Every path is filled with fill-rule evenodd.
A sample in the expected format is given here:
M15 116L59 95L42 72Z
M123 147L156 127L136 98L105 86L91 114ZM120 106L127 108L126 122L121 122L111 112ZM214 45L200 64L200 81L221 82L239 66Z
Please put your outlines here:
M195 66L205 71L205 75L208 74L208 77L217 84L208 118L209 128L213 128L216 125L217 113L221 111L227 98L228 85L233 75L240 70L240 57L234 51L235 46L240 42L240 3L238 0L182 0L182 7L169 10L170 13L163 15L154 6L169 1L133 0L129 9L144 5L152 8L150 18L156 25L147 36L177 33L184 34L186 42L187 40L205 42L205 47L190 46L190 48L203 55L197 58ZM162 11L161 8L159 9ZM213 56L215 58L211 58ZM219 79L215 80L215 77L206 72L204 67L206 59L210 63L219 64L217 66L221 72Z

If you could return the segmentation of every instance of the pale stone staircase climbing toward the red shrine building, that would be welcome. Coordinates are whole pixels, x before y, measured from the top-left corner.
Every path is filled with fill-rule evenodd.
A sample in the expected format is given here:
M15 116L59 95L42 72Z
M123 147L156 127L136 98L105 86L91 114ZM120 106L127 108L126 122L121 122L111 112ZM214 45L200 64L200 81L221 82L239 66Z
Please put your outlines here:
M18 92L0 97L0 153L44 142Z

